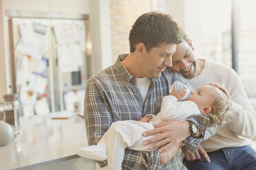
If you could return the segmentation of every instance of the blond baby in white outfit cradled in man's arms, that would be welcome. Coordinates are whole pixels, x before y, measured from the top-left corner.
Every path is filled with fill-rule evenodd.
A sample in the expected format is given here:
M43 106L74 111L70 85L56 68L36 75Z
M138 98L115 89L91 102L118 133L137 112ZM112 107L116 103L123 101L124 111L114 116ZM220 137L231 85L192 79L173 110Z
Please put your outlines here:
M151 151L149 146L143 145L143 141L152 136L143 137L142 133L152 130L153 123L162 121L185 121L193 114L208 114L210 125L220 125L228 115L231 101L226 94L212 85L204 85L193 91L190 95L189 88L175 82L168 96L163 97L160 112L155 116L147 114L140 121L116 121L111 124L97 145L91 145L79 149L78 155L95 160L106 160L105 169L122 169L122 159L125 156L125 148L137 151ZM183 88L182 88L183 86ZM188 97L184 101L184 97Z

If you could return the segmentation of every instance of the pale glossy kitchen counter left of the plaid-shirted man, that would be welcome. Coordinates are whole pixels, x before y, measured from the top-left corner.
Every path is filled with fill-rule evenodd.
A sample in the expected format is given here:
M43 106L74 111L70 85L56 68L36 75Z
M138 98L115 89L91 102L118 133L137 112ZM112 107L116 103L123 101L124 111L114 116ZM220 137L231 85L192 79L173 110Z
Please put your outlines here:
M74 164L74 160L78 160L83 162L82 166L85 164L89 169L95 169L94 160L76 155L80 147L87 145L82 117L52 119L51 114L45 114L21 117L20 122L22 135L0 147L1 169L40 169L67 160Z

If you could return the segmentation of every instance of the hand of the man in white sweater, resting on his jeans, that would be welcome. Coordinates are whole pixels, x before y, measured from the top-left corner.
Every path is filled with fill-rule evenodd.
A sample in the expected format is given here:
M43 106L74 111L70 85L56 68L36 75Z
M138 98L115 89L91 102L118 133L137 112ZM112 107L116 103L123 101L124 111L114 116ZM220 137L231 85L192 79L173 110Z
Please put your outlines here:
M204 159L206 160L206 162L211 162L208 154L206 153L206 151L199 146L198 149L195 150L195 152L193 154L189 154L189 151L186 149L186 146L182 147L182 151L185 154L186 160L199 160L201 158L201 155L204 157Z

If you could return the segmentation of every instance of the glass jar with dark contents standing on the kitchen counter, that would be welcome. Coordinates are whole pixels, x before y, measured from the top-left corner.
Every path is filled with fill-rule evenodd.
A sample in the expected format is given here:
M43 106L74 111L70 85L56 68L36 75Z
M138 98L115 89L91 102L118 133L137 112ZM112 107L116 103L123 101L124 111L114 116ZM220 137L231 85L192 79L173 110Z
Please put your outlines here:
M17 94L8 94L3 96L3 107L6 116L6 123L9 123L14 135L21 134L19 116L21 114L21 103Z

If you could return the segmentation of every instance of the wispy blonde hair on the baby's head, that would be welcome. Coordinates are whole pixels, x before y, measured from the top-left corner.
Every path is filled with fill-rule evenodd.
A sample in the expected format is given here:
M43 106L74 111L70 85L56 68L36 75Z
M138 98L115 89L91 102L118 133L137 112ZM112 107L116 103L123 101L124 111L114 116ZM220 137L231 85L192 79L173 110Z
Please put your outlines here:
M215 99L211 104L211 112L209 112L210 125L221 125L223 121L231 114L231 100L226 94L215 86Z

